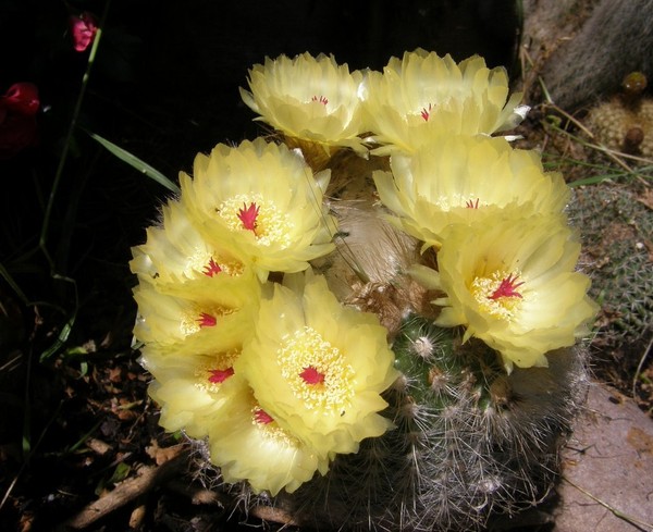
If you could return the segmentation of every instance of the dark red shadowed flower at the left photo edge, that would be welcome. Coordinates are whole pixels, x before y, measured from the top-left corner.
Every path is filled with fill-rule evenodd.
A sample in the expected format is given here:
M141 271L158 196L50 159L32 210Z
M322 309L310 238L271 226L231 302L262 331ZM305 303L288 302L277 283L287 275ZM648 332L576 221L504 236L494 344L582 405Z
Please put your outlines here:
M36 141L39 106L38 88L33 83L16 83L0 97L0 160Z

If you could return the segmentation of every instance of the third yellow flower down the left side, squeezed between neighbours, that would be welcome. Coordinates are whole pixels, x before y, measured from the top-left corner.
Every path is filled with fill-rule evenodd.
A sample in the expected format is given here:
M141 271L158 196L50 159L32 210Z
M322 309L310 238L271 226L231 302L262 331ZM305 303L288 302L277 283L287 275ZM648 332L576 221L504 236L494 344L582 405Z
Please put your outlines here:
M260 284L237 289L188 288L184 297L162 294L150 283L134 288L138 316L134 336L145 344L184 356L239 346L249 336L260 297Z

